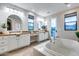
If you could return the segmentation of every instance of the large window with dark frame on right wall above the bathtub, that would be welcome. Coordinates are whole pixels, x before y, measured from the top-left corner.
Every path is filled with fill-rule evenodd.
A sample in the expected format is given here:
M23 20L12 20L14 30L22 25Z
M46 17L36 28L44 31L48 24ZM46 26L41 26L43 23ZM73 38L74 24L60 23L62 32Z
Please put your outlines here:
M68 31L77 30L77 13L70 13L65 15L64 29Z

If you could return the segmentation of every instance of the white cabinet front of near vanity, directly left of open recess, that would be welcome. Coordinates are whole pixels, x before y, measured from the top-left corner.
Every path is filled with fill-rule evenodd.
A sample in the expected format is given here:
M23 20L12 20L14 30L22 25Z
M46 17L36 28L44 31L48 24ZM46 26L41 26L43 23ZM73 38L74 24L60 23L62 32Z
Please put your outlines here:
M30 34L22 34L18 36L18 47L28 46L30 44Z

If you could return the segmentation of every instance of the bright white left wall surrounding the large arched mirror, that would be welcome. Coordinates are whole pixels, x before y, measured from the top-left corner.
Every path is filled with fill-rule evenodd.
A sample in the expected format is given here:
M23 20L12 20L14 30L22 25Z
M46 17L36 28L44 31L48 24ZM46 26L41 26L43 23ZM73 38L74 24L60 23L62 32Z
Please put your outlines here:
M12 8L12 9L20 11L20 12L23 12L24 15L22 16L22 15L16 13L16 12L7 11L6 7ZM22 20L22 30L28 30L28 22L27 21L28 21L29 12L30 11L28 11L28 10L24 10L22 8L19 8L17 6L11 5L11 4L0 4L0 24L1 23L6 23L8 16L14 14L14 15L17 15L17 16L19 16L21 18L21 20ZM37 17L37 15L34 13L34 16L35 16L34 25L36 25L36 17ZM34 30L37 30L37 28L35 26L34 26Z

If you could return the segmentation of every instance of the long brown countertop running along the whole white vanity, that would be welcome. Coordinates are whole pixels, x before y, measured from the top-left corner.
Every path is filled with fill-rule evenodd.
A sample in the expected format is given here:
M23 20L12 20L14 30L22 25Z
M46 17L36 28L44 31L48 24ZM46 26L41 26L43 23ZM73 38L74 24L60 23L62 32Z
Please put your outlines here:
M0 36L10 36L10 35L22 35L22 34L30 34L30 36L37 36L40 32L48 32L48 31L34 31L30 33L29 31L6 31L0 34Z

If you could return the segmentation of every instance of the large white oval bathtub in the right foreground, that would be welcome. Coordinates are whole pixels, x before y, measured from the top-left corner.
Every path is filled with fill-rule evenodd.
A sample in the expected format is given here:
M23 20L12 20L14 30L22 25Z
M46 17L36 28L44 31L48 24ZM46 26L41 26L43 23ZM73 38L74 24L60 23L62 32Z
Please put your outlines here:
M56 39L55 44L48 41L44 49L54 56L79 56L79 42L70 39Z

